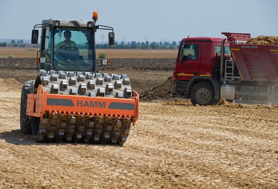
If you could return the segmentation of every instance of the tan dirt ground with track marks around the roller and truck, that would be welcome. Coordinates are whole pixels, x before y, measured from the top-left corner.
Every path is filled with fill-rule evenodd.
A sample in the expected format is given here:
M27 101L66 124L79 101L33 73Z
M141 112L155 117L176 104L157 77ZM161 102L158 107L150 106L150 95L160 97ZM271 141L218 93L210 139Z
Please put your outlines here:
M124 71L142 94L172 75L104 71ZM0 70L0 188L278 188L278 107L147 99L123 147L37 144L20 133L25 74Z

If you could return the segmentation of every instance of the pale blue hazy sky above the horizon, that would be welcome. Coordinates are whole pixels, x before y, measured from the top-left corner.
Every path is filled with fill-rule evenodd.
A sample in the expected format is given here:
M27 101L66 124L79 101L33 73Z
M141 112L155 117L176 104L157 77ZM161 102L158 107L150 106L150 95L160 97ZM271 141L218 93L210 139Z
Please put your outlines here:
M179 41L188 36L222 36L221 32L278 36L276 0L0 0L0 39L30 39L34 24L41 20L91 20L112 26L116 41ZM98 42L108 40L105 30Z

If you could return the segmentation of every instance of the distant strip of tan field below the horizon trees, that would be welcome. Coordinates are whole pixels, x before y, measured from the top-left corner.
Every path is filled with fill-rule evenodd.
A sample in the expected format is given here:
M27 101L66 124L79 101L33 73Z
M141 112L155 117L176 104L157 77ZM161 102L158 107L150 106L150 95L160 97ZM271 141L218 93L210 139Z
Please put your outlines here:
M0 58L7 58L14 55L16 58L36 58L36 48L5 48L0 47ZM106 54L106 58L176 58L175 50L129 50L129 49L97 49L97 56L100 53Z

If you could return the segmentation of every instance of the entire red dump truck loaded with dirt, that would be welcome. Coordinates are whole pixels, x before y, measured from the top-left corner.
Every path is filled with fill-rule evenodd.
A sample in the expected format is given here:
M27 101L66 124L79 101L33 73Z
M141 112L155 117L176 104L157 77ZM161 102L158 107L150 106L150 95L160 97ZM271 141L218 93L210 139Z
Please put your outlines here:
M249 33L226 38L182 39L173 72L173 92L199 105L220 99L278 104L278 45L247 44Z

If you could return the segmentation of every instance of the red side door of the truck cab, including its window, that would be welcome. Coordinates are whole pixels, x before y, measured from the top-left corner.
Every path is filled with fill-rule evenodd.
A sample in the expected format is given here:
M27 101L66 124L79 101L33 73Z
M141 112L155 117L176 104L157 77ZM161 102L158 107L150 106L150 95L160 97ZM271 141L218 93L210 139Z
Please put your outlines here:
M177 71L178 80L190 80L200 75L201 42L183 42Z

